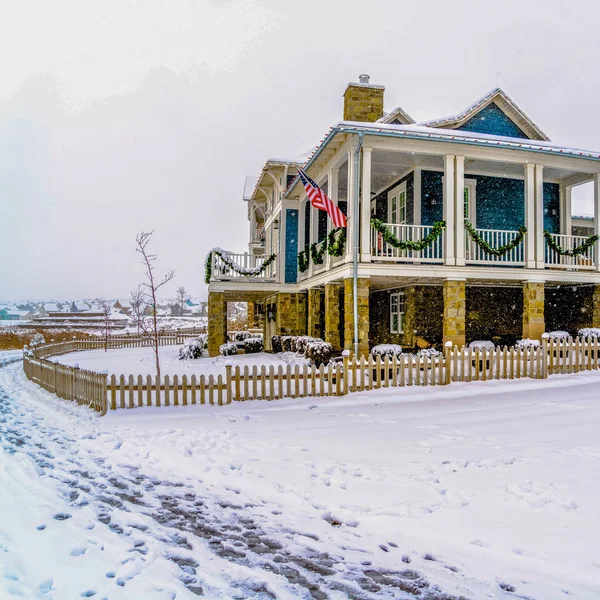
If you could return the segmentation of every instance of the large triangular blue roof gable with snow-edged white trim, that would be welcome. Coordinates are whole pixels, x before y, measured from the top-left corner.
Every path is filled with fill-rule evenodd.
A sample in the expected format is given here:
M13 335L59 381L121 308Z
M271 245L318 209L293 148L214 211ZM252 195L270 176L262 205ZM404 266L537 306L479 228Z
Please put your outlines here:
M458 115L427 121L421 125L549 141L548 136L500 88L492 90Z

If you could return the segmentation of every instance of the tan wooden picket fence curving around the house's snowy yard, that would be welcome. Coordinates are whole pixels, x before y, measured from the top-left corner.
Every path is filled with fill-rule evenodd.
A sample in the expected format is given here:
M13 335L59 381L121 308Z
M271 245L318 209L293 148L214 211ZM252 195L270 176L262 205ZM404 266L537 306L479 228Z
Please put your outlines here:
M161 336L160 345L183 343L184 334ZM110 348L149 345L143 338L111 338ZM142 406L225 405L246 400L307 396L344 396L349 392L388 387L448 385L492 379L545 379L548 375L598 369L597 338L545 339L528 348L446 348L439 356L344 356L328 366L270 366L243 369L226 365L225 375L119 377L68 367L46 360L78 350L104 348L104 340L74 340L39 346L26 352L26 376L61 398L105 414L109 409Z

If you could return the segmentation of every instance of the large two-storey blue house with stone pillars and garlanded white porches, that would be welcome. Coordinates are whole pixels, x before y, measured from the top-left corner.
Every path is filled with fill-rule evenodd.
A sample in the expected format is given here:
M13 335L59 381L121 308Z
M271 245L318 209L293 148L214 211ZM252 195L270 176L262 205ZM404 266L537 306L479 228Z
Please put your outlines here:
M348 227L311 207L297 162L268 160L244 194L248 252L207 261L211 354L230 301L261 306L267 347L308 334L353 350L356 314L361 354L600 326L600 154L550 142L502 90L415 123L384 112L384 88L361 76L300 166ZM588 182L595 216L574 217Z

